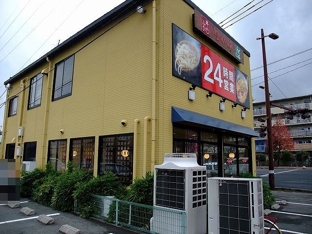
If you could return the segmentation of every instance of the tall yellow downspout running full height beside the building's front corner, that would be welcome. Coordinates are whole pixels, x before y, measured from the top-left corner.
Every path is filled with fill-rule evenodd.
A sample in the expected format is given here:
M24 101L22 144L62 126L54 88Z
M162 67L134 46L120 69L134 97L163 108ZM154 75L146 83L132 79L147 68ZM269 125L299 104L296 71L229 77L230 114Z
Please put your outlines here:
M151 172L155 166L155 142L156 142L156 0L153 0L152 16L152 156Z

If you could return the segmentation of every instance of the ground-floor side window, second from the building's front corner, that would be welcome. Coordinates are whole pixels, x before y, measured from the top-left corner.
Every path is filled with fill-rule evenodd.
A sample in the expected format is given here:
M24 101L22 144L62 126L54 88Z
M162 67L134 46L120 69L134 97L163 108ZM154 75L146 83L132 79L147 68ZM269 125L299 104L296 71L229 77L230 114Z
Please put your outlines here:
M70 139L69 160L86 172L93 174L95 137Z

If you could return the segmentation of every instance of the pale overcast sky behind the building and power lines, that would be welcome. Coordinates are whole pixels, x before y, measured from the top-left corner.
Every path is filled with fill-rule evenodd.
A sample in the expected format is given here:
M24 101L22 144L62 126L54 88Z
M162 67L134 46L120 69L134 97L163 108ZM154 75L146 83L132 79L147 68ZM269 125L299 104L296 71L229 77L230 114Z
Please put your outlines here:
M251 3L239 13L260 1L193 0L216 23L225 20L249 2ZM265 39L268 63L308 50L269 65L268 72L273 72L269 74L272 78L269 81L273 96L271 100L309 95L312 93L312 0L270 1L262 0L231 23L269 3L225 30L250 52L252 70L263 65L261 40L256 40L260 37L261 28L265 35L279 35L276 40ZM122 0L0 0L0 95L5 91L5 80L53 49L59 40L61 43L68 39L121 2ZM279 69L282 70L274 72ZM289 72L291 70L294 71ZM289 73L284 74L286 72ZM264 91L258 88L259 85L264 85L258 84L263 81L263 68L252 71L251 78L254 102L264 101ZM4 96L0 98L0 104L5 101ZM4 107L0 108L0 125L3 113Z

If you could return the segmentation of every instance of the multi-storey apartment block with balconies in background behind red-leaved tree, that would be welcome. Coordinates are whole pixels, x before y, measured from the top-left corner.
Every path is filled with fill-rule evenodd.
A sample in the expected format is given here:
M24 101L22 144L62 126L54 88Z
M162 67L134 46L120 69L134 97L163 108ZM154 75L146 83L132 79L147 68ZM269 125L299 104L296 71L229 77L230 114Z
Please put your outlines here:
M299 109L299 108L308 108L312 109L312 95L293 97L293 98L285 98L285 99L277 99L271 100L273 103L279 104L281 106L285 106L291 109ZM257 119L259 117L266 117L266 105L265 102L255 102L254 103L254 131L259 133L259 128L261 122ZM272 125L274 124L274 119L280 115L281 117L285 117L284 109L271 106L271 114L272 114ZM293 119L283 119L284 123L291 131L291 137L294 141L294 149L293 151L306 150L312 152L312 121L311 117L301 118L301 115L296 115ZM257 137L255 138L255 149L256 152L265 152L265 138Z

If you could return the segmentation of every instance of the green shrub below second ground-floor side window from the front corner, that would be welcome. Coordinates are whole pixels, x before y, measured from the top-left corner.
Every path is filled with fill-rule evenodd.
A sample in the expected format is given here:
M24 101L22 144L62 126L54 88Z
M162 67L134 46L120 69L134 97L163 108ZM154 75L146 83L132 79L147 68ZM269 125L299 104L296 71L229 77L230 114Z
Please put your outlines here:
M78 182L88 181L93 176L77 168L66 170L59 176L59 182L54 188L51 208L58 211L72 211L74 209L74 191Z

